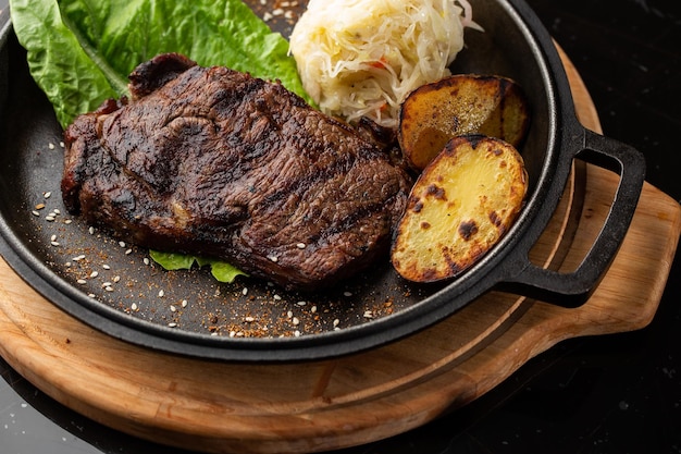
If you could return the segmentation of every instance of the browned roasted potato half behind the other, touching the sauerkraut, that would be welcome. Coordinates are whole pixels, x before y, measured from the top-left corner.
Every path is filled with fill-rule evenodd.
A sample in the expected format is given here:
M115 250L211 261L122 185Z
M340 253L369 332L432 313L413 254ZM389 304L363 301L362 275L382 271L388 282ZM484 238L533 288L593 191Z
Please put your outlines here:
M413 90L403 102L397 138L407 162L423 170L451 137L483 134L519 148L529 124L528 101L518 84L462 74Z

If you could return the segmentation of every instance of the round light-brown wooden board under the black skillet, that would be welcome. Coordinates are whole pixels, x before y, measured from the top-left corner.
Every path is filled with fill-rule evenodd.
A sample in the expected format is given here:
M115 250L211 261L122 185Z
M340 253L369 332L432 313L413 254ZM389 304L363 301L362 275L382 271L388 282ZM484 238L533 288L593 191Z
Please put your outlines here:
M564 61L580 120L599 131L582 81ZM579 263L617 183L605 170L575 169L533 259ZM680 232L679 204L646 183L619 255L580 308L494 292L391 345L281 365L205 361L116 341L62 312L0 260L0 354L65 406L156 442L214 453L340 449L465 405L561 340L645 327Z

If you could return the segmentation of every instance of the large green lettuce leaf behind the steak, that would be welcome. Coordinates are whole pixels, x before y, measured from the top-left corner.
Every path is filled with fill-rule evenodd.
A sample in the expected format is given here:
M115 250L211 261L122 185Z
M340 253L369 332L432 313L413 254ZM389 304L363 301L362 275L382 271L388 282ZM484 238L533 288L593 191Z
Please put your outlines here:
M30 73L65 127L104 99L127 94L127 75L159 53L280 79L305 99L288 41L242 0L10 0Z

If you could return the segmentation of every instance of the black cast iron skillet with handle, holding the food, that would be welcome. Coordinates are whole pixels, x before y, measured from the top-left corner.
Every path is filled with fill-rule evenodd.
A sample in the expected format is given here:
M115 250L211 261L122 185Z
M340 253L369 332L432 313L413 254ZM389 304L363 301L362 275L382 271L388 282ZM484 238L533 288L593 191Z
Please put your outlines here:
M485 33L467 32L467 49L453 72L502 74L524 88L533 120L521 151L531 186L512 229L456 281L408 284L386 259L310 295L255 280L219 284L203 269L165 272L147 265L146 250L120 245L66 214L59 193L62 131L7 24L0 41L0 253L34 289L83 322L137 345L210 359L307 360L363 351L429 327L492 289L582 304L628 230L644 181L643 158L578 122L554 42L523 1L471 3ZM286 24L280 27L286 30ZM619 173L620 184L581 266L558 273L528 257L577 158Z

